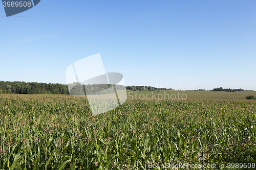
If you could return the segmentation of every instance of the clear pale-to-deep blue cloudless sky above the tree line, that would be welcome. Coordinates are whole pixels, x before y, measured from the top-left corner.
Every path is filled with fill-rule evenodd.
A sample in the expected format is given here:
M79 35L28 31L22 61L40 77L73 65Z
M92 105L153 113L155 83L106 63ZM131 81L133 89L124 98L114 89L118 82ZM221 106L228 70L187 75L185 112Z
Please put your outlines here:
M256 90L256 1L45 1L6 17L0 80L66 84L100 53L126 85Z

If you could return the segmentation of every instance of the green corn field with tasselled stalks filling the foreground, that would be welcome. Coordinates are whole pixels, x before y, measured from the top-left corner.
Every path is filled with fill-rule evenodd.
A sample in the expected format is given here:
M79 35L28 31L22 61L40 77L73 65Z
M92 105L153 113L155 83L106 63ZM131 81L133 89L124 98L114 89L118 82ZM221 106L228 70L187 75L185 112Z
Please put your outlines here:
M92 116L86 98L2 94L0 116L0 169L256 162L254 102L128 99Z

